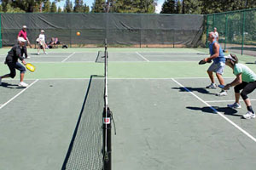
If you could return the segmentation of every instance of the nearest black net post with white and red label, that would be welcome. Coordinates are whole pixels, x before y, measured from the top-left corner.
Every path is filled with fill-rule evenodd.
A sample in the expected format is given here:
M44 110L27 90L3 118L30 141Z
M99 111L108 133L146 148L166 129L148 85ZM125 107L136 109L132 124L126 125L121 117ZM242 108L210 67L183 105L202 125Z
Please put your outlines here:
M107 114L106 114L107 111ZM103 170L111 170L111 111L104 108L103 114Z

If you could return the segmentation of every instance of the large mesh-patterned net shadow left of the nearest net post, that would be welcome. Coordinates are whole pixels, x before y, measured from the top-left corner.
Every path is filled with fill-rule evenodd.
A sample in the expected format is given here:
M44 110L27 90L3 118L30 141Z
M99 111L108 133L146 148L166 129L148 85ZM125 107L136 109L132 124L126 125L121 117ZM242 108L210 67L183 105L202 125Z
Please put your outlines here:
M91 76L84 104L62 169L102 170L104 81Z

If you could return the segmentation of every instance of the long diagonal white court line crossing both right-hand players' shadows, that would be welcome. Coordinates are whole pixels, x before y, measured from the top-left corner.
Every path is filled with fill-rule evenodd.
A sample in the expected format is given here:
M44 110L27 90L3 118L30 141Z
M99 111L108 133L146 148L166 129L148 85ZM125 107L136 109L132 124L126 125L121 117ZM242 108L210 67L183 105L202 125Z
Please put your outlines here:
M221 114L220 112L218 112L216 109L214 109L212 107L212 105L209 105L206 101L204 101L203 99L201 99L200 97L198 97L197 95L195 95L193 92L191 92L188 88L185 88L181 83L177 82L175 79L172 78L173 82L176 82L180 87L184 88L187 92L189 92L189 94L192 94L195 96L195 98L199 99L202 103L204 103L205 105L209 106L212 111L214 111L215 113L217 113L219 116L221 116L222 118L224 118L224 120L226 120L227 122L230 122L231 125L233 125L234 127L236 127L238 130L241 131L241 133L244 133L245 135L247 135L247 137L249 137L250 139L252 139L254 142L256 142L256 139L250 134L247 133L245 130L243 130L241 127L239 127L238 125L236 125L235 122L230 121L230 119L226 116L224 116L223 114Z

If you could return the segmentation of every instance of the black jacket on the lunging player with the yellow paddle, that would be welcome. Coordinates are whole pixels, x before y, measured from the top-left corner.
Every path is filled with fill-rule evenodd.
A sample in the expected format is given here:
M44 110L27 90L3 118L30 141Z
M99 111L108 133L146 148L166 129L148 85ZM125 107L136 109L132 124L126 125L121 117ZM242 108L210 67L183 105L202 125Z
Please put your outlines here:
M24 58L21 56L20 50L21 49L19 44L12 47L11 50L9 50L5 61L7 63L15 63L18 61L18 59L22 61Z

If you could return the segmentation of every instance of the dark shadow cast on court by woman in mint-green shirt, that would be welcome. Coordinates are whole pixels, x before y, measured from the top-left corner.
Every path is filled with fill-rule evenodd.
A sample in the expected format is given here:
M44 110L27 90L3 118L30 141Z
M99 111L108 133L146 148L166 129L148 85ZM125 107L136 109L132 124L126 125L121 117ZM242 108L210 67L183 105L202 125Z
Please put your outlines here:
M216 112L212 110L212 108L214 108L214 109L216 109L216 111L224 113L224 115L241 116L241 115L236 115L237 111L235 109L231 109L229 107L212 106L212 108L211 108L211 107L207 107L207 106L206 107L191 107L191 106L188 106L186 108L190 109L190 110L194 110L194 111L202 111L202 112L206 112L206 113L216 114Z

